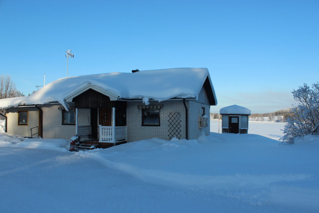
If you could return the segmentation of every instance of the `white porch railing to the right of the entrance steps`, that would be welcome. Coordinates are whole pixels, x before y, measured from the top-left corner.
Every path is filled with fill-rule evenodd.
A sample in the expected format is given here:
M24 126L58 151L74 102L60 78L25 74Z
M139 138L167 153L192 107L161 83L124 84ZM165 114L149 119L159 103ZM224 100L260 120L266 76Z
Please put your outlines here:
M115 134L113 133L113 126L100 126L100 142L115 143L126 140L126 126L115 126L114 130Z

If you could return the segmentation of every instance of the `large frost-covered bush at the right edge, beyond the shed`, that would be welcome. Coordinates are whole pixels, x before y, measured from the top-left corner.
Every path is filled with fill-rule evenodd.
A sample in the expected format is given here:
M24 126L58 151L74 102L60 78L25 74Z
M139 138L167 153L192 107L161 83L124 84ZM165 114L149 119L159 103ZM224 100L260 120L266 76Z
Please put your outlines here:
M288 144L293 144L295 137L319 133L319 82L313 84L312 89L304 84L292 94L299 103L291 108L293 116L287 119L284 136L280 139Z

